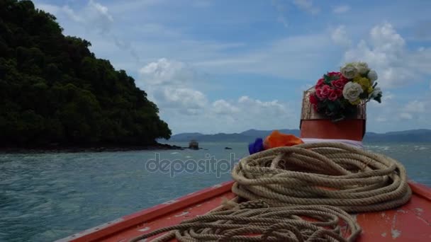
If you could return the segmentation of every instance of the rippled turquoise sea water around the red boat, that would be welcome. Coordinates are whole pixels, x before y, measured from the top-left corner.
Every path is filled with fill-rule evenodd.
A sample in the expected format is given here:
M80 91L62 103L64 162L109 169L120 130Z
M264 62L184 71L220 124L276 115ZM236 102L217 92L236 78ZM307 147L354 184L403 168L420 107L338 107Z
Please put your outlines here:
M228 166L248 152L242 143L200 145L207 150L0 154L0 241L54 241L230 180ZM398 159L410 178L431 186L431 144L366 149ZM169 171L163 159L178 161Z

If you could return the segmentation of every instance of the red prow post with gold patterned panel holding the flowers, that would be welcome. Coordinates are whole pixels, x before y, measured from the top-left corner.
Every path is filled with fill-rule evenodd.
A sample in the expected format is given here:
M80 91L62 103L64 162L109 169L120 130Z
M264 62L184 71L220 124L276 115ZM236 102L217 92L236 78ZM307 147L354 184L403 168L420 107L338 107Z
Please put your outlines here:
M349 139L362 141L366 130L366 105L357 105L352 115L340 120L331 120L315 112L310 103L314 89L304 91L301 110L301 138Z

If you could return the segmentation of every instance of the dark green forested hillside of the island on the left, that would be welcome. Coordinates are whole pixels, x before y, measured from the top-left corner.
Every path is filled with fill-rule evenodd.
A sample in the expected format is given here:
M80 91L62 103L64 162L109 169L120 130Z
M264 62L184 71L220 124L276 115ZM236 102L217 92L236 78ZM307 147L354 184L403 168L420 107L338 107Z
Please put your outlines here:
M169 139L125 71L65 36L31 1L0 0L0 146L148 145Z

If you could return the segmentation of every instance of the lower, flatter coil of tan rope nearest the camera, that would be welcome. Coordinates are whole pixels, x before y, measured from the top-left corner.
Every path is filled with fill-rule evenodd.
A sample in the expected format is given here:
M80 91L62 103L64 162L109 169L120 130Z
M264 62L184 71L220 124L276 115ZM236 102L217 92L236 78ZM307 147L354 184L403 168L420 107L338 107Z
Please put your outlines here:
M179 225L133 238L130 242L167 231L170 232L153 242L169 241L172 238L184 242L354 241L361 233L356 221L337 207L312 205L256 208L256 204L248 204L253 208L245 208L248 206L239 204L235 209L211 212Z

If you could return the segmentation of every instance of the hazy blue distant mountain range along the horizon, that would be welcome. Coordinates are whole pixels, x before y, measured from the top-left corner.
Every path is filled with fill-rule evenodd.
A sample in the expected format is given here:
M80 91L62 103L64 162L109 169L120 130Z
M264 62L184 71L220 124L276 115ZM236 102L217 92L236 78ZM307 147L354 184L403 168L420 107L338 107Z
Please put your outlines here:
M284 134L299 136L299 129L278 130ZM267 137L271 132L272 130L249 129L233 134L181 133L172 135L169 142L189 142L191 139L196 139L198 142L253 142L257 137ZM364 142L431 142L431 129L413 129L384 134L367 132Z

